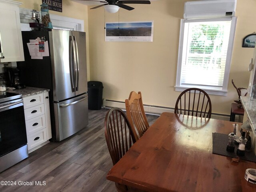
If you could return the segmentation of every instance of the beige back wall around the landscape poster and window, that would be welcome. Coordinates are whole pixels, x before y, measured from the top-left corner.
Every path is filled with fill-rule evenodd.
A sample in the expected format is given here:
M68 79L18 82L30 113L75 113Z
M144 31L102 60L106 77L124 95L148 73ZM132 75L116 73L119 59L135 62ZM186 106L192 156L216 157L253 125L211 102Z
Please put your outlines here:
M130 91L141 91L144 104L174 108L180 92L174 91L180 19L184 2L159 0L151 5L135 5L135 10L120 9L120 21L154 21L153 42L105 42L104 8L90 10L90 80L103 82L103 98L124 101ZM230 114L233 100L238 98L231 84L248 86L248 63L253 48L242 48L244 36L256 31L255 0L238 0L238 16L227 96L210 95L212 111ZM106 12L106 22L117 22L118 13ZM243 93L244 94L244 93Z

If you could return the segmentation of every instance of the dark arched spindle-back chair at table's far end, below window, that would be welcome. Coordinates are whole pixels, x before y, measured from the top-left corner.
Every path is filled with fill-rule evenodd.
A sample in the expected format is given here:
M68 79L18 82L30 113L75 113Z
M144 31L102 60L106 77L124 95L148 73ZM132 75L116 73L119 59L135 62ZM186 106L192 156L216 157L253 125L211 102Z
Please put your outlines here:
M186 89L178 96L174 113L211 118L212 103L210 97L202 89Z

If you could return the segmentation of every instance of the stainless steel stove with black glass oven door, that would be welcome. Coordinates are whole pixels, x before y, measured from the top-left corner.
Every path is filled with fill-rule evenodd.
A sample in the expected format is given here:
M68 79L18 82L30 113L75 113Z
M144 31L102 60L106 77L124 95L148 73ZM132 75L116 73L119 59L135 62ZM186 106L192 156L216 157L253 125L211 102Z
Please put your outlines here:
M0 172L27 157L22 95L0 91Z

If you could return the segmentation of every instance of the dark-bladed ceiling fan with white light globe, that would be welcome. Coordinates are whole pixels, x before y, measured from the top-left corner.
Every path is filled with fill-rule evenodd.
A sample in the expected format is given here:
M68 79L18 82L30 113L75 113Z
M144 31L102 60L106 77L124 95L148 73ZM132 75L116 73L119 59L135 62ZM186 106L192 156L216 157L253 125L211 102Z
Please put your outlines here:
M94 1L94 2L101 2L105 3L90 9L96 9L102 6L108 7L108 12L115 13L119 10L119 8L123 8L126 10L133 10L133 7L127 6L125 4L150 4L150 1L148 0L105 0L105 1L98 1L98 0L83 0L83 1Z

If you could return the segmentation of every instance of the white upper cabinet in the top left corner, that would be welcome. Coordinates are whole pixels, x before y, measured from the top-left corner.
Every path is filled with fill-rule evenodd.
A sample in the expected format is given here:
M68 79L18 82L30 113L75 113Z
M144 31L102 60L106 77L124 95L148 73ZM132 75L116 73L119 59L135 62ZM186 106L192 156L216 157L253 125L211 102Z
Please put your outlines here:
M22 3L0 0L0 62L24 61L19 6Z

